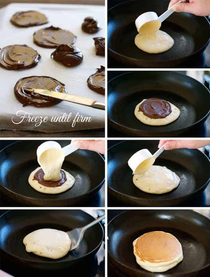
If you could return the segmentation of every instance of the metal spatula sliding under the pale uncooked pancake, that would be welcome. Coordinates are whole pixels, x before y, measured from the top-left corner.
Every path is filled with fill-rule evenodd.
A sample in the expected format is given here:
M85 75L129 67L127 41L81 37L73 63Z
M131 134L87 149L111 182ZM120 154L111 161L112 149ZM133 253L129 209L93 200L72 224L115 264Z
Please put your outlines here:
M93 222L89 223L88 225L82 227L82 228L76 228L73 229L69 232L66 232L71 240L71 250L74 250L75 248L77 248L80 244L80 242L83 239L84 233L87 229L89 229L90 227L92 227L93 225L99 223L101 220L103 220L105 218L105 214L99 218L97 218L96 220L94 220Z

